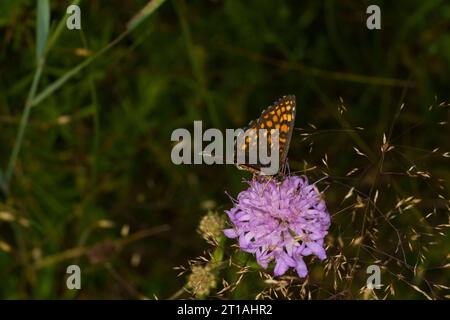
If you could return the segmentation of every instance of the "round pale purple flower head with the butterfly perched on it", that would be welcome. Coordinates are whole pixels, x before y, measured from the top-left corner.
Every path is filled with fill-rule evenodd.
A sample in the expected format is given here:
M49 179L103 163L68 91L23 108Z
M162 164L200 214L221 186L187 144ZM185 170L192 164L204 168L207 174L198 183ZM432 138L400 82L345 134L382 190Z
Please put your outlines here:
M226 211L234 227L224 230L225 235L239 238L240 248L255 254L264 269L274 260L275 276L295 268L300 277L306 277L303 257L326 258L323 242L330 215L320 192L299 176L282 181L254 179L249 184Z

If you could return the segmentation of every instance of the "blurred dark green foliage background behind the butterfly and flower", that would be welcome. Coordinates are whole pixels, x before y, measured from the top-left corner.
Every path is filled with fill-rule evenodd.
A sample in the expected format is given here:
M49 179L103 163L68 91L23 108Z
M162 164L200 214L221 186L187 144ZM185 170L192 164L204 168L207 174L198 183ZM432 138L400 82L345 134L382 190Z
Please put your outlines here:
M438 107L450 100L448 1L173 0L131 32L127 23L146 1L80 1L82 30L62 24L57 34L70 3L49 1L53 42L45 52L36 96L107 50L30 106L9 195L4 193L0 202L0 212L13 215L0 221L1 298L175 294L186 279L173 268L208 248L196 233L199 219L209 207L229 208L225 191L236 196L245 187L243 176L250 176L232 166L173 165L172 131L192 130L194 120L219 129L242 127L284 94L297 97L296 126L306 130L313 124L318 130L312 152L311 140L304 140L301 130L294 134L292 171L304 169L307 161L317 166L307 173L312 179L323 172L345 177L363 166L364 157L353 146L376 167L383 133L395 120L392 143L414 149L405 147L391 159L392 166L402 157L410 159L446 179L438 191L448 197L448 161L415 153L438 147L450 151L448 125L436 125L450 120L448 108ZM370 4L382 9L382 30L366 28ZM46 37L45 16L40 20L38 14L35 1L0 2L3 175L39 69L39 41ZM114 42L117 37L120 41ZM404 112L396 119L401 103ZM338 111L342 104L343 115ZM430 106L437 111L430 112ZM355 127L365 130L354 133ZM329 171L322 162L325 153ZM366 169L352 183L369 193L374 178L371 167ZM403 191L396 189L391 200L414 194L429 208L436 205L436 184L399 185ZM330 188L332 214L347 191ZM431 226L448 223L445 205L437 207L441 215ZM350 226L343 237L347 247L361 231L361 217L356 222L350 216L336 218L330 234L337 239ZM396 227L415 228L411 223L419 219L411 219L396 221ZM382 226L379 231L389 247L392 234ZM449 241L439 239L427 253L432 266L446 264ZM414 259L414 250L411 255ZM83 270L81 291L65 287L69 264ZM320 274L323 265L315 265L312 274ZM449 284L448 268L433 270L427 276ZM401 267L394 272L401 273ZM418 286L421 277L412 278ZM363 282L350 286L353 296ZM262 287L252 274L231 297L254 298ZM423 295L405 286L394 297Z

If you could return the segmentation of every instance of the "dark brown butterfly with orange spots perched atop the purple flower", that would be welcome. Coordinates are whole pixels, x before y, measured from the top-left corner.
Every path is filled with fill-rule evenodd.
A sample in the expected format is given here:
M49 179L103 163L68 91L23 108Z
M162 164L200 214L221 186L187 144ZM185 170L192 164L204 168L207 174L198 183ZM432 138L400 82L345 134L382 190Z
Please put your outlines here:
M279 170L278 175L283 174L283 170L286 167L287 153L289 150L289 144L291 142L292 132L294 131L295 122L295 96L287 95L275 101L271 106L266 108L261 116L251 121L244 132L249 132L249 135L245 138L245 141L236 148L241 148L246 151L246 161L248 161L248 150L250 144L256 145L259 139L259 130L266 129L267 132L271 132L272 129L278 130L279 133ZM271 143L271 137L267 137L269 144ZM237 145L237 142L236 142ZM239 169L247 170L253 174L261 174L261 164L240 163L236 165Z

